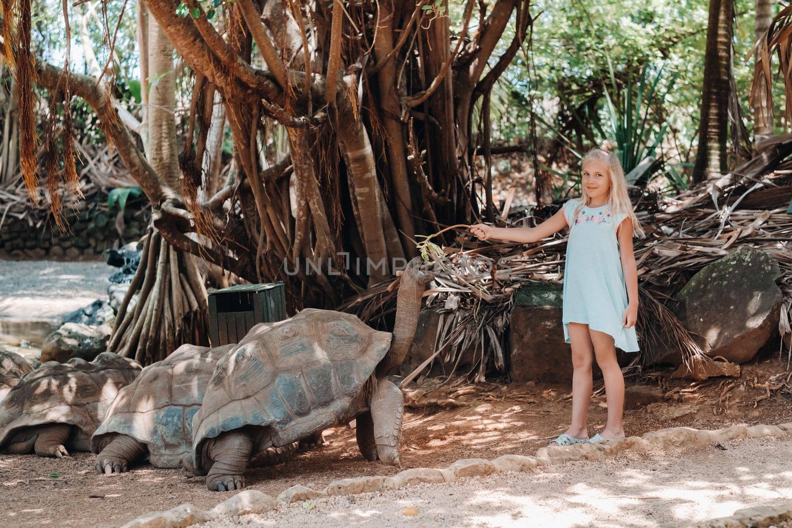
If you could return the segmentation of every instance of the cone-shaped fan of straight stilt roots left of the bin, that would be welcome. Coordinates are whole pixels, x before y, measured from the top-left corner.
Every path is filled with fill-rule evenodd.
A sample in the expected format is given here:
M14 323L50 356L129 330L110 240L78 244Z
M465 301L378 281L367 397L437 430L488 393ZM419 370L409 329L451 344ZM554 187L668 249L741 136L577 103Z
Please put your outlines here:
M129 310L135 293L137 304ZM207 325L207 293L195 260L150 230L108 349L150 365L181 344L207 345Z

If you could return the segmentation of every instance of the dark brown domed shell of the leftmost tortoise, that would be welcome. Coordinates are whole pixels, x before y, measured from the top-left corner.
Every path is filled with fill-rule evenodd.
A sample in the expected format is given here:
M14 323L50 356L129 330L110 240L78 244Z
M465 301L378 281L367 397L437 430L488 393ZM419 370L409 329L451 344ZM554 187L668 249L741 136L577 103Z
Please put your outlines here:
M18 429L44 424L71 424L93 435L119 389L140 370L140 363L112 352L90 363L80 358L44 363L0 401L0 448Z

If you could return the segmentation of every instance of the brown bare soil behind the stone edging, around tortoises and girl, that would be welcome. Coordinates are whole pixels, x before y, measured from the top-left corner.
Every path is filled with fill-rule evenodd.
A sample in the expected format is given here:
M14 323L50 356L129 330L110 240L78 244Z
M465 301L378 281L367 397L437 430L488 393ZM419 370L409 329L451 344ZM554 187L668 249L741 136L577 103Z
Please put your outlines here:
M661 386L667 398L627 410L627 435L676 426L715 429L792 422L792 393L786 392L786 386L770 389L779 380L788 381L786 358L746 365L739 379L715 378L703 384L669 380L668 374L670 370L664 370L642 378L644 383ZM451 407L443 408L438 402ZM565 431L570 414L568 386L534 384L453 382L412 405L405 414L399 468L366 462L357 450L355 431L342 426L326 431L326 446L283 465L251 469L246 474L247 486L277 496L294 484L322 488L346 477L390 475L413 467L442 468L460 458L534 454ZM604 396L595 397L589 435L604 427L606 413ZM0 526L121 526L149 511L181 503L208 509L232 495L208 492L204 477L150 465L120 475L97 475L90 454L63 460L0 455Z

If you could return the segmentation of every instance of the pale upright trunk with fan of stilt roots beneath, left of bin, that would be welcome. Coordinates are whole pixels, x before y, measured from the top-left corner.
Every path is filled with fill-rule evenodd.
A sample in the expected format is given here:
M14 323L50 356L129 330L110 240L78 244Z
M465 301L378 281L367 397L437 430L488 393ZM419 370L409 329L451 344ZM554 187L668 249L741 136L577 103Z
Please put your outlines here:
M154 17L147 19L149 108L144 127L151 168L170 188L181 188L176 146L176 84L173 45ZM133 294L135 310L128 310ZM185 343L208 343L208 301L195 258L172 247L152 229L138 271L116 317L108 349L143 365L165 359ZM216 345L216 344L215 344Z

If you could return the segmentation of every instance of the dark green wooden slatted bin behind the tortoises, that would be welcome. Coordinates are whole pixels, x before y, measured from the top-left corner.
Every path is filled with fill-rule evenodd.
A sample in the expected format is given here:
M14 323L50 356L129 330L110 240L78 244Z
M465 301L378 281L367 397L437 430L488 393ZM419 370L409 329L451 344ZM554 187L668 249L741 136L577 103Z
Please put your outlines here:
M284 283L243 284L209 294L209 340L212 347L238 343L259 323L286 318Z

